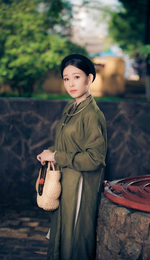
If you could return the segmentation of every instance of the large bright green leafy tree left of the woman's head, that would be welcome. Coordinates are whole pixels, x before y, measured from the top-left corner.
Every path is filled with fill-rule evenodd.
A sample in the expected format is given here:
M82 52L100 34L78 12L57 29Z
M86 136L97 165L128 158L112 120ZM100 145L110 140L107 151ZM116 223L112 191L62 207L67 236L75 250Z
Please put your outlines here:
M35 81L49 69L57 70L64 56L85 54L82 47L55 33L56 24L63 28L67 22L61 13L67 2L47 0L43 9L39 0L0 0L0 5L0 83L10 84L20 96L31 96ZM70 11L69 5L65 12Z

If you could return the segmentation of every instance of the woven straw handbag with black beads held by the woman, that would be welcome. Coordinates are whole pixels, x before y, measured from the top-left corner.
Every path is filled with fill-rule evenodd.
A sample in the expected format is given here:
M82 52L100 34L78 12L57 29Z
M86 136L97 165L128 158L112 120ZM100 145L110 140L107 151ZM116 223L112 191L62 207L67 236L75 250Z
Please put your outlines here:
M50 170L50 163L52 171ZM36 182L37 204L44 210L55 210L59 207L61 193L60 171L55 171L53 162L41 166Z

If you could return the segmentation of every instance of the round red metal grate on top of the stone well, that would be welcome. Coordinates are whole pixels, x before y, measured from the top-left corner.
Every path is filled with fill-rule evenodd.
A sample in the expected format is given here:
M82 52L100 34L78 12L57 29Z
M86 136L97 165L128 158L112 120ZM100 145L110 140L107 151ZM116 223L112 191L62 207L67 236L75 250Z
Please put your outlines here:
M150 175L105 180L104 194L114 203L150 212Z

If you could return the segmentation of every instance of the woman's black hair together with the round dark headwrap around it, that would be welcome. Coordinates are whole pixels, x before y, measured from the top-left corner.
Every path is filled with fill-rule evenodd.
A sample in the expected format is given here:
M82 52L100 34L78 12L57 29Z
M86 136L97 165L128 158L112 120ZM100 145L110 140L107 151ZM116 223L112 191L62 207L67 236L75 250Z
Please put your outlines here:
M86 76L88 76L91 73L93 75L93 81L95 80L96 71L95 71L94 64L91 62L90 59L88 59L84 55L70 54L62 60L60 65L62 78L63 78L64 68L66 68L68 65L73 65L76 68L79 68L80 70L84 71Z

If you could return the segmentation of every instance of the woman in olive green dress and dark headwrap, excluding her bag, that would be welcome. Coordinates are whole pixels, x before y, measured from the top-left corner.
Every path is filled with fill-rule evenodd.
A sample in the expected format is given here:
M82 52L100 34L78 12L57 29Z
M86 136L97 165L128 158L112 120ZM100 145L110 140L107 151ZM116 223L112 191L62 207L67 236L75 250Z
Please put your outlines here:
M48 260L94 260L98 189L107 150L106 121L90 94L95 67L83 55L61 62L69 95L56 128L55 144L37 159L54 161L61 171L60 206L52 211Z

